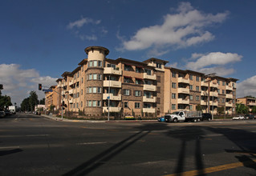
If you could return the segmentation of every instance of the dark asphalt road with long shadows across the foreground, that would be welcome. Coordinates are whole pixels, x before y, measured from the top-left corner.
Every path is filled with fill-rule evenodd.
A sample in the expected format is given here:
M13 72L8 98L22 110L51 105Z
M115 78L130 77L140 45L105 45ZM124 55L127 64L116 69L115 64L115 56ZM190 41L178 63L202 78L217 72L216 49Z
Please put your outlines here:
M256 175L256 120L0 118L0 175Z

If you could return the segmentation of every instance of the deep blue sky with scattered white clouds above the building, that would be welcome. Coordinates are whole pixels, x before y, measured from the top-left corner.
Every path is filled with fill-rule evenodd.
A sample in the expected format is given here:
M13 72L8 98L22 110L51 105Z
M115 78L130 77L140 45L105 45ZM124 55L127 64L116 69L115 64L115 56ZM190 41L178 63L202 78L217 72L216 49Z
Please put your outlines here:
M239 79L256 97L256 1L1 0L0 84L17 105L104 46L107 58L159 58L181 70Z

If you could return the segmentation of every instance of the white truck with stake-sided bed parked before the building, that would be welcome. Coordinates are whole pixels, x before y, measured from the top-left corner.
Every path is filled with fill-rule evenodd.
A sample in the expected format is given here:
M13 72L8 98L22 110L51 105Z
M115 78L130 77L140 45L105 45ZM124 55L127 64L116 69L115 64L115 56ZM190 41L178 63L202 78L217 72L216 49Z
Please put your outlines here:
M176 111L166 114L165 122L199 122L201 118L201 111Z

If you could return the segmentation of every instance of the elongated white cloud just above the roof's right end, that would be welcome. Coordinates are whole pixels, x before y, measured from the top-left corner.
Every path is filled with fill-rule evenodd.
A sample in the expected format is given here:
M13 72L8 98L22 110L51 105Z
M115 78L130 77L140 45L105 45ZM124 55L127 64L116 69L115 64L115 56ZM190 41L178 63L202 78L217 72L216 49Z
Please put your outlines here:
M242 60L242 55L212 52L209 54L192 54L192 58L197 60L195 62L188 62L186 67L191 70L201 70L206 66L224 66L233 62L239 62Z

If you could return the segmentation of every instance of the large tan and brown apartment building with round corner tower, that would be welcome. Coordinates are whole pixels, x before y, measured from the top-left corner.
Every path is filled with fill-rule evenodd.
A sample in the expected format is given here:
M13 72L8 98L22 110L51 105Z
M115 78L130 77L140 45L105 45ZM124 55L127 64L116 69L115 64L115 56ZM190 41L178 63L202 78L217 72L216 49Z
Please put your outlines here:
M109 50L101 46L89 46L84 51L87 58L57 80L59 104L64 101L67 111L160 116L196 110L201 105L205 112L216 114L217 107L223 106L226 114L235 113L238 79L166 67L168 61L158 58L144 62L106 58Z

